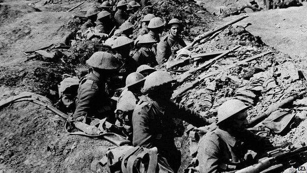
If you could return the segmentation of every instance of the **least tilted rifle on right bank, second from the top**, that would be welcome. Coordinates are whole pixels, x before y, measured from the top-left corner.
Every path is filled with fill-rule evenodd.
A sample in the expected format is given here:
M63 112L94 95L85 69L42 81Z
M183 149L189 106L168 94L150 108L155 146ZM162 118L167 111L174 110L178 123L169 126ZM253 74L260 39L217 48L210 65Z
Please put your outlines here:
M177 60L177 61L172 61L172 62L167 62L166 64L166 69L170 69L173 67L176 67L180 64L183 64L185 62L188 62L194 58L204 58L204 59L210 59L210 58L214 58L222 53L224 53L225 51L216 51L216 52L207 52L207 53L201 53L201 54L197 54L197 55L193 55L193 56L189 56L185 59L182 60Z

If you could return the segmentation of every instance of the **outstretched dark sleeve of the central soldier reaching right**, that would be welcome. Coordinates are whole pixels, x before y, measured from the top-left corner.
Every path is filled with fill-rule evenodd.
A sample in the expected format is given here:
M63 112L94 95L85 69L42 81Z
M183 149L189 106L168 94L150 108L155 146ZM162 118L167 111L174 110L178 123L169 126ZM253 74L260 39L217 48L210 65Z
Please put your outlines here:
M182 104L171 103L167 111L171 111L169 114L173 115L173 118L182 119L193 126L202 127L209 125L208 119L201 116L199 113L185 107Z

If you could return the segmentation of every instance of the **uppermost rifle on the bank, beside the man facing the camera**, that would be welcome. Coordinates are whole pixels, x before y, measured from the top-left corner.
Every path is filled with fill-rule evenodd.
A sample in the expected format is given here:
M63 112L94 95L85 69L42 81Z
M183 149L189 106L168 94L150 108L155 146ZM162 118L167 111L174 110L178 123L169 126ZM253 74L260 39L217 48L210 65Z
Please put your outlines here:
M188 49L188 48L190 48L190 47L193 47L194 44L196 44L198 41L204 39L205 37L210 36L210 35L213 35L213 34L215 34L216 32L225 29L227 26L232 25L232 24L235 24L235 23L237 23L237 22L239 22L239 21L245 19L246 17L248 17L248 15L243 15L243 16L241 16L241 17L239 17L239 18L237 18L237 19L234 19L234 20L232 20L232 21L230 21L230 22L228 22L228 23L226 23L226 24L224 24L224 25L222 25L222 26L216 27L215 29L213 29L213 30L211 30L211 31L208 31L208 32L206 32L206 33L203 33L203 34L201 34L201 35L198 35L197 37L194 38L194 40L193 40L193 42L192 42L191 44L185 46L183 49Z

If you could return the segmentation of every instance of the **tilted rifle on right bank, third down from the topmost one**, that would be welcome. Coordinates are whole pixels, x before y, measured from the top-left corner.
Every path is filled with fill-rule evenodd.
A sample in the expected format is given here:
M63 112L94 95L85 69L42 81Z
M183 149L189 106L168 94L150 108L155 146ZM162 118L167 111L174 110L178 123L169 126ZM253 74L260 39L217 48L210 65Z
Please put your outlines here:
M186 72L184 72L183 74L179 75L177 78L177 82L181 83L183 82L185 79L187 79L188 77L190 77L192 75L192 73L198 71L199 69L205 69L205 68L209 68L211 65L213 65L217 60L221 59L223 56L228 55L230 52L238 49L240 46L234 47L230 50L228 50L227 52L224 52L222 54L220 54L219 56L215 57L214 59L202 64L201 66L197 67L197 68L193 68L190 69Z

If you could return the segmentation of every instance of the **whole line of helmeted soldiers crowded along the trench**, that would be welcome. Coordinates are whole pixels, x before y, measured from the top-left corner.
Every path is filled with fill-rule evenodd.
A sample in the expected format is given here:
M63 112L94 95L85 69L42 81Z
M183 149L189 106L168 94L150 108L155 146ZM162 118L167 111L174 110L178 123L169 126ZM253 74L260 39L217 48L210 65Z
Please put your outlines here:
M109 22L116 21L121 36L116 37L112 45L116 55L95 52L86 61L92 70L79 83L73 119L91 124L93 119L107 118L121 127L134 146L157 147L174 172L181 165L181 152L174 143L176 124L173 118L198 127L199 133L204 132L203 126L216 123L216 128L199 142L197 158L201 173L244 168L251 164L250 159L245 159L247 149L259 153L271 149L272 144L266 138L246 130L246 110L249 107L239 100L220 105L217 118L209 118L171 101L174 78L153 67L171 56L175 43L185 46L180 36L183 25L178 19L170 20L167 25L169 33L160 39L166 23L153 14L147 14L141 20L143 25L138 38L133 41L130 38L133 25L125 21L130 6L138 9L140 5L135 1L119 1L114 20L112 11L108 11L112 7L108 1L101 4L101 12L88 11L89 20L82 28L99 27L101 32L108 33L113 27ZM131 57L129 52L133 45L137 45L139 50ZM112 97L116 88L120 88L121 94L114 102Z

